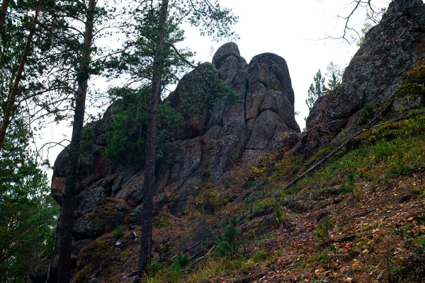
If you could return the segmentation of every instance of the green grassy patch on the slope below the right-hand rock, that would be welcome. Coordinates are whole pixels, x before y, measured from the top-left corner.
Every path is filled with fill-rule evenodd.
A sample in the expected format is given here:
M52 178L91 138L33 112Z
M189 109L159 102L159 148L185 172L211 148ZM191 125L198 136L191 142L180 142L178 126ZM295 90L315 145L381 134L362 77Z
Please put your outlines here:
M364 131L355 141L356 149L329 158L321 169L300 180L288 193L314 189L317 184L336 185L341 176L349 173L365 182L380 183L425 168L424 112L411 113L412 117L405 121Z

